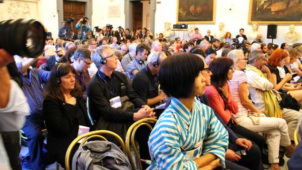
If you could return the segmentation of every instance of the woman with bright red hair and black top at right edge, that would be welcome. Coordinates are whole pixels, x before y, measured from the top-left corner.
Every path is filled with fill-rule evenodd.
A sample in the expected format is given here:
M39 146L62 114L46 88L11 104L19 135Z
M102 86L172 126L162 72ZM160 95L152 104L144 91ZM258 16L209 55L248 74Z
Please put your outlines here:
M281 93L287 93L291 97L295 98L297 102L302 102L301 84L287 83L287 81L291 80L293 74L286 73L285 77L282 79L280 77L279 69L277 68L277 66L283 67L285 65L285 61L288 60L288 58L290 57L287 51L277 49L272 53L272 55L268 59L267 67L272 73L274 90L279 91Z

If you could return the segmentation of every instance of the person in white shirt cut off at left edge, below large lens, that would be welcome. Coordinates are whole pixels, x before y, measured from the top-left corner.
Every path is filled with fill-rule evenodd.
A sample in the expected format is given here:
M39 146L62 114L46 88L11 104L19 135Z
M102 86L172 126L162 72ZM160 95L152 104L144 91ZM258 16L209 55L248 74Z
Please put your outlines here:
M13 56L6 50L0 49L0 86L2 87L0 88L0 133L2 134L0 135L0 169L22 168L19 161L20 148L11 148L11 146L14 143L19 145L19 131L25 116L30 113L24 93L14 80L10 80L6 68L6 65L13 61ZM4 145L5 140L9 140L12 144Z

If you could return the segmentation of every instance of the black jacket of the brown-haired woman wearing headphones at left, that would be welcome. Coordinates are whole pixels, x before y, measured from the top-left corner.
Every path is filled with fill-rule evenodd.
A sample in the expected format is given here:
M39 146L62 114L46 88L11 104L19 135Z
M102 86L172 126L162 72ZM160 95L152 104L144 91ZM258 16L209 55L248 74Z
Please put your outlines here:
M78 110L86 119L84 126L89 126L89 117L85 102L77 98L77 106L65 104L60 100L45 97L43 102L43 116L48 132L47 151L50 161L57 161L61 165L65 162L65 153L69 144L77 138L79 131Z

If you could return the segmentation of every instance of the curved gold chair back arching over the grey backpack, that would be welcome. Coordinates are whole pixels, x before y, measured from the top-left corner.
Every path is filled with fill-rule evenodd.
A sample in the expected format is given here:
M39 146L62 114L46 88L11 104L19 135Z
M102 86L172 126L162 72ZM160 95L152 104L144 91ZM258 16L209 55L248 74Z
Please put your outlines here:
M92 139L92 138L100 138L102 140L105 140L105 141L108 141L104 136L101 136L101 135L110 135L110 136L113 136L115 137L119 143L121 144L121 147L122 147L122 151L124 153L126 153L125 151L125 143L123 141L123 139L117 135L116 133L114 132L111 132L109 130L96 130L96 131L92 131L92 132L88 132L88 133L85 133L81 136L78 136L77 138L75 138L71 143L70 145L68 146L67 148L67 151L66 151L66 155L65 155L65 167L66 167L66 170L70 170L71 169L71 166L69 164L69 160L70 160L70 153L71 153L71 150L72 148L74 147L75 144L77 144L81 139L85 138L80 146L82 146L85 142L87 142L89 139Z

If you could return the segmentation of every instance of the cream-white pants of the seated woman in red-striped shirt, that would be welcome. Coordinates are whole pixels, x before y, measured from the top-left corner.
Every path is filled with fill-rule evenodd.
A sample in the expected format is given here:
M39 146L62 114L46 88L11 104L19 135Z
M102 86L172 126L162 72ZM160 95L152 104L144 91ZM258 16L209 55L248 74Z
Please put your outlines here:
M267 134L268 161L279 162L279 145L290 145L286 121L282 118L260 117L260 124L255 125L248 116L236 118L238 124L254 132Z

